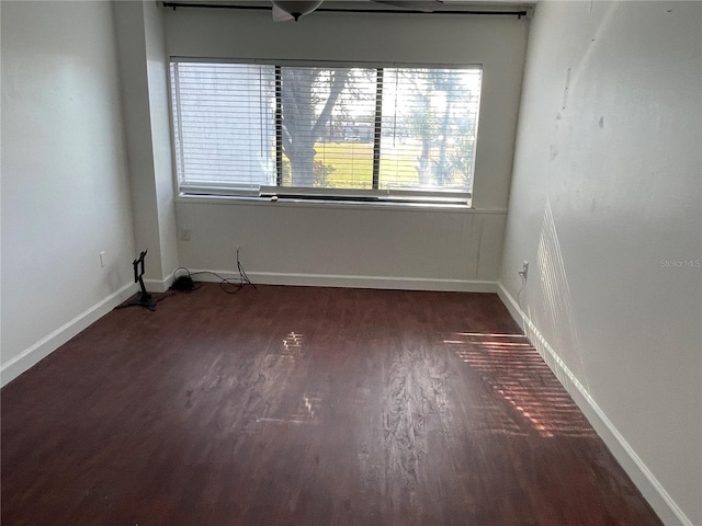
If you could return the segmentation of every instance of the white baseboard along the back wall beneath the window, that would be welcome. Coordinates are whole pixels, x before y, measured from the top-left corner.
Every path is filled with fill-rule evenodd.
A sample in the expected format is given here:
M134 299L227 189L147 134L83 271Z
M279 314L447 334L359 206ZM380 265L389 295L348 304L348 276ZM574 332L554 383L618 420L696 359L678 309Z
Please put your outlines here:
M193 276L195 281L219 282L220 279L206 274L204 270L191 270L191 273L202 272ZM230 271L212 271L227 279L238 279L239 274ZM337 274L293 274L276 272L247 272L249 279L260 285L288 285L305 287L343 287L343 288L378 288L395 290L435 290L457 293L497 293L497 283L482 279L441 279L423 277L387 277L387 276L348 276Z

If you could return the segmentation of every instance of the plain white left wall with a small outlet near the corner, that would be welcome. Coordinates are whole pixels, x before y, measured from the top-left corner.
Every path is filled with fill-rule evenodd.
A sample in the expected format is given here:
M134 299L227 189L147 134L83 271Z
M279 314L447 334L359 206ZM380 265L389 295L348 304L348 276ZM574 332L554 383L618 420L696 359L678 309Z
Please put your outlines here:
M110 4L0 9L4 384L128 295L134 250Z

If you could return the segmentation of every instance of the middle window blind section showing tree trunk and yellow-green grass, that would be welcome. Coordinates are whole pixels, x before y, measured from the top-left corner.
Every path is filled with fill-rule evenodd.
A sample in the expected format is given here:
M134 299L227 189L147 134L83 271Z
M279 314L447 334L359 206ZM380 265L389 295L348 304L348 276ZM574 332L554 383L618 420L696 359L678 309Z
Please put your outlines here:
M373 188L376 75L281 67L282 185Z

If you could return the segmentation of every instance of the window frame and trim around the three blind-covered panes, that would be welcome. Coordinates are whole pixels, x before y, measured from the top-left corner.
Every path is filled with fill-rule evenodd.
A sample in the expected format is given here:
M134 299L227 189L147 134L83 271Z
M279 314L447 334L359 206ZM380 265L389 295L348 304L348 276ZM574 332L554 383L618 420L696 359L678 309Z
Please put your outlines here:
M480 92L478 93L478 105L476 112L476 134L475 145L478 141L479 121L480 121L480 106L482 106L482 91L483 91L483 65L482 64L427 64L427 62L396 62L396 61L355 61L355 60L299 60L299 59L261 59L261 58L207 58L207 57L188 57L188 56L170 56L169 57L169 70L172 65L179 64L251 64L251 65L268 65L275 67L275 92L276 92L276 108L275 108L275 135L276 142L280 144L279 135L282 133L282 112L281 112L281 96L279 90L281 89L281 68L283 67L315 67L315 68L366 68L376 69L378 77L382 79L384 69L387 68L405 68L405 69L454 69L454 70L479 70L480 71ZM183 183L179 180L178 174L178 148L176 148L176 122L173 117L173 102L178 105L178 112L180 112L180 102L173 101L172 76L168 77L168 90L169 90L169 118L171 124L171 146L173 156L173 178L176 185L176 195L183 201L190 201L191 198L203 199L211 198L217 202L220 199L226 201L247 201L251 199L262 202L280 202L286 201L291 203L299 203L309 201L312 203L340 203L351 205L364 205L364 204L381 204L390 206L428 206L428 207L446 207L454 209L468 208L473 209L473 192L457 192L455 188L420 188L420 190L383 190L377 187L378 170L380 165L380 140L382 138L382 129L380 119L375 119L374 124L374 137L373 137L373 190L355 190L355 188L321 188L321 187L305 187L305 186L283 186L282 185L282 149L276 148L275 153L275 186L271 185L237 185L231 183L219 182L202 182L202 183ZM176 80L178 81L178 79ZM377 82L377 81L376 81ZM382 110L382 93L378 93L376 98L376 115ZM477 147L475 147L477 152ZM476 167L476 156L474 153L473 167ZM376 159L377 157L377 159ZM475 172L474 172L475 178ZM237 199L239 198L239 199Z

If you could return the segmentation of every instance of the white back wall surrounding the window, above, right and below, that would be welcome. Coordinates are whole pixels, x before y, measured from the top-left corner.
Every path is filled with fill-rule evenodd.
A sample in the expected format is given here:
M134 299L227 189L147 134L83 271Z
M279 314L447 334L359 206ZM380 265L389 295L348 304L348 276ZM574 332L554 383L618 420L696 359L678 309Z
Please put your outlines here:
M168 10L172 56L482 64L473 213L177 202L181 264L259 283L484 289L499 274L528 21L517 18Z

